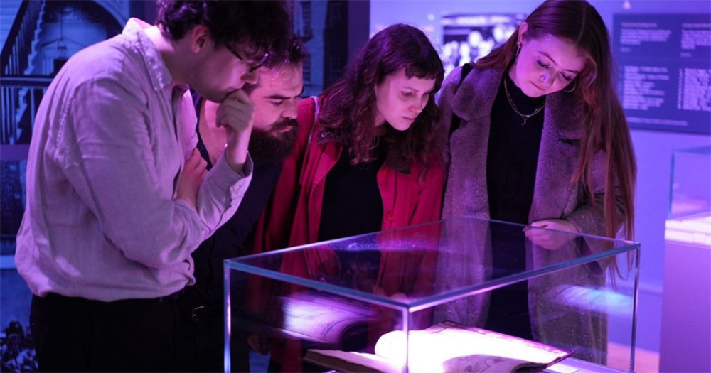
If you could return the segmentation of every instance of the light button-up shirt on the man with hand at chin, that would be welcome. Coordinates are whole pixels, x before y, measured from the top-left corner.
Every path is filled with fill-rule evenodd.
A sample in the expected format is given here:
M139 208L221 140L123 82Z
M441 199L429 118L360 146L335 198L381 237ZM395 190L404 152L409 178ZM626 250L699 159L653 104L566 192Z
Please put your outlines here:
M198 211L176 199L196 115L149 27L74 55L38 109L16 265L32 292L100 301L154 298L194 283L191 252L237 210L252 179L224 156Z

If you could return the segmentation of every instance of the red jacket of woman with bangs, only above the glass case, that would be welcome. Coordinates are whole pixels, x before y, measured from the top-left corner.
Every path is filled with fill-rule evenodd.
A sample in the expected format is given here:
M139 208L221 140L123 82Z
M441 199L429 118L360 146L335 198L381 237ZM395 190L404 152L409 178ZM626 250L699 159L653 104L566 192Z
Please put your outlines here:
M342 146L335 141L319 141L319 128L313 128L315 114L313 98L299 101L296 148L284 161L272 200L257 224L255 252L318 240L326 175L338 162ZM380 168L383 230L439 220L444 168L441 158L436 159L423 180L418 180L422 171L419 165L412 165L407 175L387 166Z

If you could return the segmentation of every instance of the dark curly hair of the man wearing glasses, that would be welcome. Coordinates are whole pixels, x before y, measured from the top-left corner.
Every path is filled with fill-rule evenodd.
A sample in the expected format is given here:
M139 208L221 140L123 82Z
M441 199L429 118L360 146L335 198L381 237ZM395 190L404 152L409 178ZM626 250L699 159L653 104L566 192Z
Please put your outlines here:
M158 0L156 24L180 40L193 27L206 26L215 43L245 43L246 58L269 51L283 53L292 23L284 1Z

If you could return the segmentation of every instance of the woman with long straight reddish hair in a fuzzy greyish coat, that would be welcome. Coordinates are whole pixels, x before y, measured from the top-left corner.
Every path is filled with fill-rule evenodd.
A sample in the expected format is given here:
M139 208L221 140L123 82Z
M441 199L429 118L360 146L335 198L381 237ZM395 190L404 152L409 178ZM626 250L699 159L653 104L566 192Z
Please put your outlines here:
M621 229L631 239L636 163L613 80L609 33L582 0L545 1L500 48L454 70L439 98L449 135L443 217L606 237ZM491 226L491 251L481 256L492 278L607 249L582 245L581 253L563 234L504 230ZM614 271L616 263L579 266L566 278L602 286L605 267ZM604 316L552 317L550 284L542 282L493 291L476 323L604 361ZM566 336L551 337L552 330Z

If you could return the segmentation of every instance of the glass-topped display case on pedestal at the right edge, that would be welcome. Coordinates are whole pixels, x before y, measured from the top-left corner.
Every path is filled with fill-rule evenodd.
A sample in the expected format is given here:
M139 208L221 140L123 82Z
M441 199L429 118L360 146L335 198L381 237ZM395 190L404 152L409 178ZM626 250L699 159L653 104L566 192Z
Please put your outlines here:
M711 146L674 151L665 222L661 372L711 372Z

